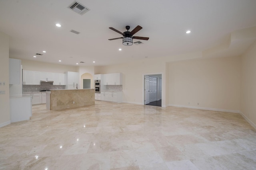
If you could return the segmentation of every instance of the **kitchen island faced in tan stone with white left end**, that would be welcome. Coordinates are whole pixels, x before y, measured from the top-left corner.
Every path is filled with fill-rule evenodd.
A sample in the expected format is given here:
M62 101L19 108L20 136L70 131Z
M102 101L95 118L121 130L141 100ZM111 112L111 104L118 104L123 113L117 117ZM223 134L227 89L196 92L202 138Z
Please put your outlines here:
M46 93L46 109L64 110L95 104L94 89L51 90Z

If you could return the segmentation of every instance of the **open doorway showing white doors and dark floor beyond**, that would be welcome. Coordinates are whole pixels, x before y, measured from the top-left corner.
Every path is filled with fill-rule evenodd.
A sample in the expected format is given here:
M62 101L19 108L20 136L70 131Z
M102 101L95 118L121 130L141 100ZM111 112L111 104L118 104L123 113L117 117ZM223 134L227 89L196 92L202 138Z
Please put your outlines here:
M144 76L144 104L162 107L162 74Z

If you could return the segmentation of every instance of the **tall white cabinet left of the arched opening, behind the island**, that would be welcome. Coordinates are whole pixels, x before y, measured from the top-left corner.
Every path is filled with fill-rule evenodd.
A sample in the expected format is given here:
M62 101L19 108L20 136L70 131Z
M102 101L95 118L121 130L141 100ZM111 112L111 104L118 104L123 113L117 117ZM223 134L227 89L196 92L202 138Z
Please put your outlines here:
M66 85L68 90L76 89L76 86L79 88L79 72L66 72Z

